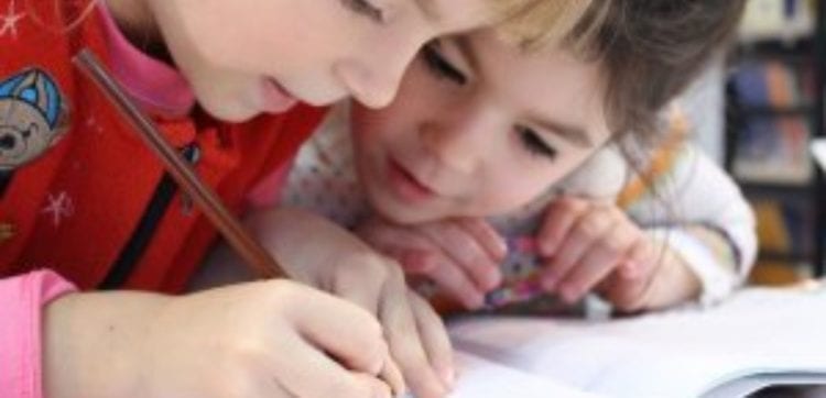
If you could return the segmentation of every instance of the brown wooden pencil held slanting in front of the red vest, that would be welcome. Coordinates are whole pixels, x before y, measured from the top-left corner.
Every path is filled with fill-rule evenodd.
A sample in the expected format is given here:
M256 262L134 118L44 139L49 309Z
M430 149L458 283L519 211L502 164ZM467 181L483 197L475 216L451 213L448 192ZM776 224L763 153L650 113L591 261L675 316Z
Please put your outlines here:
M95 55L88 49L83 49L73 62L112 100L152 152L157 155L172 178L199 206L204 214L238 252L244 264L261 278L286 276L275 258L250 235L241 222L224 206L215 191L198 178L189 164L166 142L152 120L127 97L120 85L101 66Z

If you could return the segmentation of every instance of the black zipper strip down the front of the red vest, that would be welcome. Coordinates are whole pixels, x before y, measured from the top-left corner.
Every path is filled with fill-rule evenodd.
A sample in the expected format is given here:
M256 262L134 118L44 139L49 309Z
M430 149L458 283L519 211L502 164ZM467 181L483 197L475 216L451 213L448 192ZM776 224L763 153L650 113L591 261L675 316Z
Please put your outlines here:
M200 150L197 144L192 143L181 150L181 154L191 164L197 164L200 156ZM120 252L118 259L112 264L109 274L102 283L100 289L109 290L122 287L134 272L134 267L143 256L152 237L161 223L163 215L169 211L172 200L178 191L178 186L169 173L165 173L152 195L146 209L143 212L141 221L138 223L132 236Z

